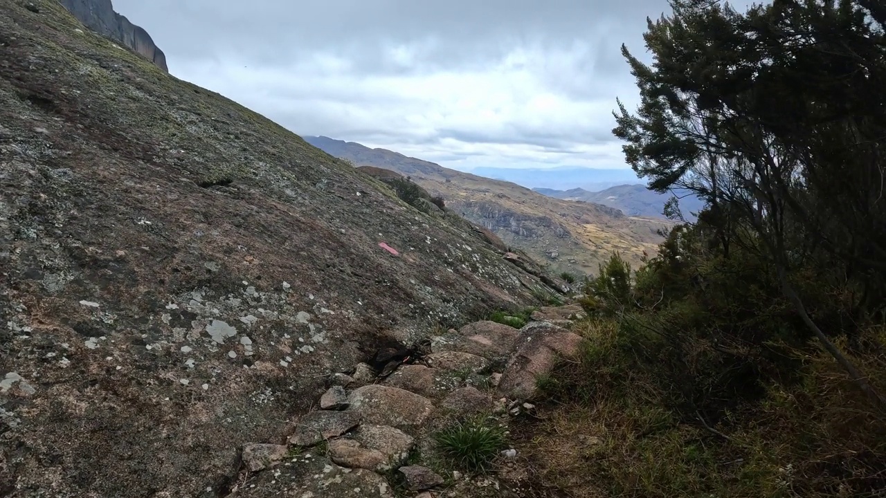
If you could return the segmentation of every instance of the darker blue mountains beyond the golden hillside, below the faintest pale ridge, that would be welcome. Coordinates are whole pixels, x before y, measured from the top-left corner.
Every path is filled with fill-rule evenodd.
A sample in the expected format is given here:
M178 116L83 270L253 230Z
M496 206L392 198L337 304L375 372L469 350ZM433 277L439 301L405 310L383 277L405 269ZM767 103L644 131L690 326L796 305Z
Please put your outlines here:
M680 200L680 211L687 220L695 219L693 213L698 213L704 206L702 199L697 198L688 191L674 191L673 193L659 194L650 191L646 185L635 183L633 185L617 185L603 191L587 191L585 189L570 189L557 191L555 189L535 188L540 194L563 200L579 200L593 202L603 206L620 209L628 216L656 216L663 217L664 203L676 195Z

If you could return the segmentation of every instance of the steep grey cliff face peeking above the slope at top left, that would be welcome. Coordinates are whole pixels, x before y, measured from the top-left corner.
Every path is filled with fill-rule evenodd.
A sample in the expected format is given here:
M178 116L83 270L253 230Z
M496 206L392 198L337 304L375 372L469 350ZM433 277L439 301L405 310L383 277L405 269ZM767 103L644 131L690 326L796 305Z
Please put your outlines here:
M166 56L151 39L151 35L113 10L111 0L58 0L68 12L92 29L123 43L168 72Z

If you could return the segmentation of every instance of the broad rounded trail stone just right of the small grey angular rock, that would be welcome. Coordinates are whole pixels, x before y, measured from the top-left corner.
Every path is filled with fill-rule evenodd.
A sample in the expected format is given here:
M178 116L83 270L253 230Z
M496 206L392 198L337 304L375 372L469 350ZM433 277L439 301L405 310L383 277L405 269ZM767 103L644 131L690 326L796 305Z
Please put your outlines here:
M434 408L424 396L377 384L354 389L347 402L350 403L348 409L338 413L359 414L365 424L392 427L421 425Z

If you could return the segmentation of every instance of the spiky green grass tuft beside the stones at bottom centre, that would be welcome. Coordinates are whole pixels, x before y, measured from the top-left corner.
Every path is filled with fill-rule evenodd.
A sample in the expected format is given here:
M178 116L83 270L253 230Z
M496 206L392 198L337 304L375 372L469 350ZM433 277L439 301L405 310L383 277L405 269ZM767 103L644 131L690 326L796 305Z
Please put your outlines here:
M506 442L505 428L483 416L458 422L434 434L440 452L464 471L488 470Z

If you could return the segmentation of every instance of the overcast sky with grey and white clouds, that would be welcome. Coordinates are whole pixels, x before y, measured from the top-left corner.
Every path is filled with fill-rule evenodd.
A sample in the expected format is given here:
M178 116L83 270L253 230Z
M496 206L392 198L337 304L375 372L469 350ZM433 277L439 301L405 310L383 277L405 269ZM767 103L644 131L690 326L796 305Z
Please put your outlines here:
M299 135L470 169L626 167L611 135L666 0L113 0L175 76ZM643 56L645 58L645 56Z

